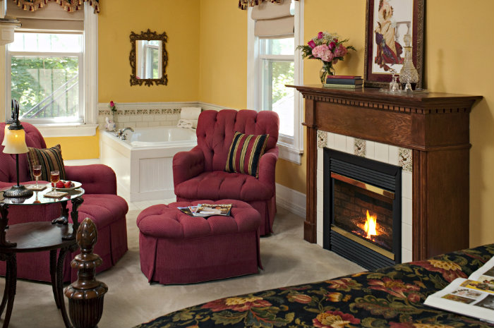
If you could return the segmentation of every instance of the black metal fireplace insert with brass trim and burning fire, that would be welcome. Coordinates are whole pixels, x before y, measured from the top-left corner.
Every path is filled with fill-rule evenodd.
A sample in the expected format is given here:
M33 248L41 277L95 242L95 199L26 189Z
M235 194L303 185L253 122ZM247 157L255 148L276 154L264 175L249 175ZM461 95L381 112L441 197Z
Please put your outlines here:
M325 148L327 250L366 269L401 263L402 168Z

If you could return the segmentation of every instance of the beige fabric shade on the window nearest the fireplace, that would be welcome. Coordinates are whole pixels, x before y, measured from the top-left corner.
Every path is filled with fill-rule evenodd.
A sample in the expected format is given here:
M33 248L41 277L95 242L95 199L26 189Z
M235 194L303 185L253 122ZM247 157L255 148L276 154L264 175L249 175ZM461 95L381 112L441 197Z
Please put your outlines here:
M264 1L252 8L256 37L287 37L294 35L295 20L290 12L291 0L281 3Z

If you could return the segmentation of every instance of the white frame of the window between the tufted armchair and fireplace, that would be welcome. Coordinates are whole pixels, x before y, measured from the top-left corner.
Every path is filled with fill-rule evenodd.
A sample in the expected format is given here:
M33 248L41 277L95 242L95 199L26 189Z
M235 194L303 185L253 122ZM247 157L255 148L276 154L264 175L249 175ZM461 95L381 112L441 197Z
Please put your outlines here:
M303 44L303 1L294 1L295 4L295 32L294 44ZM260 111L262 107L261 86L258 81L261 74L261 56L259 38L254 35L255 20L251 18L252 8L248 8L247 22L247 107ZM263 58L269 56L263 55ZM281 56L276 56L280 59ZM291 56L290 56L291 57ZM299 52L294 54L294 83L303 84L303 61ZM288 57L287 57L288 59ZM279 157L290 162L301 164L303 154L303 97L301 93L294 90L294 137L289 138L279 135L278 147Z

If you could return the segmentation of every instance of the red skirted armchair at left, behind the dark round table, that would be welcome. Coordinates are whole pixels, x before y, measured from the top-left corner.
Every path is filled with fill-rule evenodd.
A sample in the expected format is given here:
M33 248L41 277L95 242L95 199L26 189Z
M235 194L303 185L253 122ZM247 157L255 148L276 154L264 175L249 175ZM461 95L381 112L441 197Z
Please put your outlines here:
M4 140L4 123L0 123L0 140ZM25 140L28 147L46 148L44 139L37 128L23 122ZM16 184L16 157L4 154L0 146L0 188ZM63 154L63 150L62 150ZM126 214L128 205L123 198L116 195L116 176L108 166L101 164L85 166L65 166L66 178L82 183L85 190L83 205L80 205L79 222L86 217L92 219L98 229L98 241L95 253L100 255L103 264L97 272L114 266L127 251ZM19 155L19 180L21 184L31 181L27 154ZM47 181L40 181L47 183ZM68 210L71 211L71 202ZM16 206L8 208L8 224L29 221L52 221L61 214L59 203L51 205ZM69 222L71 222L69 215ZM77 252L78 253L78 252ZM64 264L64 281L74 281L77 271L72 270L70 261L76 253L68 254ZM0 274L5 274L5 262L0 261ZM40 253L23 253L17 255L17 277L39 281L50 281L49 251Z

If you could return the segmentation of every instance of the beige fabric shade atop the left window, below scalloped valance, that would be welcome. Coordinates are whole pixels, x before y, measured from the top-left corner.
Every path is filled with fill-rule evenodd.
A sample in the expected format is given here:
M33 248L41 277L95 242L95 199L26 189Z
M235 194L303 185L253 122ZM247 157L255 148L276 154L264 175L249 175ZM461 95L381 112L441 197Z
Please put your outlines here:
M37 11L25 11L14 1L7 2L7 15L20 20L18 31L84 31L84 10L69 12L56 2L48 2Z

